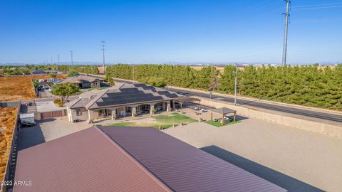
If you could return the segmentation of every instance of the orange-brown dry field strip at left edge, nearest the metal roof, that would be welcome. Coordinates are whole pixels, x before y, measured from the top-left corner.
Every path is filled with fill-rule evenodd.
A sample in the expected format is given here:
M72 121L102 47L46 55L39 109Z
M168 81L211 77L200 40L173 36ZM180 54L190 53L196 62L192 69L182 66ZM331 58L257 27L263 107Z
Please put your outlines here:
M9 158L12 133L16 122L17 107L0 107L0 181Z

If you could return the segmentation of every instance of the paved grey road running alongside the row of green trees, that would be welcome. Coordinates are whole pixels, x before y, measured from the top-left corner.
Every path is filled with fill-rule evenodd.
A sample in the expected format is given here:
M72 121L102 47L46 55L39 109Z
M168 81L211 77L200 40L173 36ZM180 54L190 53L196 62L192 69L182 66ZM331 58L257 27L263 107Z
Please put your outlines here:
M115 81L132 83L131 81L126 81L126 80L115 80ZM195 95L195 96L204 97L204 98L210 97L209 94L202 93L202 92L180 90L180 89L175 89L175 88L166 88L166 89L173 91L173 92L180 93L181 95L187 95L187 96ZM234 98L232 97L212 95L212 99L234 103ZM237 104L241 106L259 107L259 108L266 109L266 110L274 110L274 111L285 112L289 114L297 114L297 115L301 115L304 117L314 117L316 119L324 119L324 120L328 120L331 122L338 122L338 123L342 122L342 114L337 114L337 113L333 114L330 112L323 112L319 110L314 111L314 110L299 109L297 107L274 105L274 104L266 103L266 102L258 102L258 101L242 100L242 99L237 100Z

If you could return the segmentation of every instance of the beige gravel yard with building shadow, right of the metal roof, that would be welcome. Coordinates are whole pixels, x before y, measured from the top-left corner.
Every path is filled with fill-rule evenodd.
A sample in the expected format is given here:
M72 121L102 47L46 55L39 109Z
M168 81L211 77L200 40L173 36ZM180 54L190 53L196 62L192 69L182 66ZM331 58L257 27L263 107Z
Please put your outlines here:
M220 128L197 122L163 132L289 191L342 191L342 139L259 119Z

